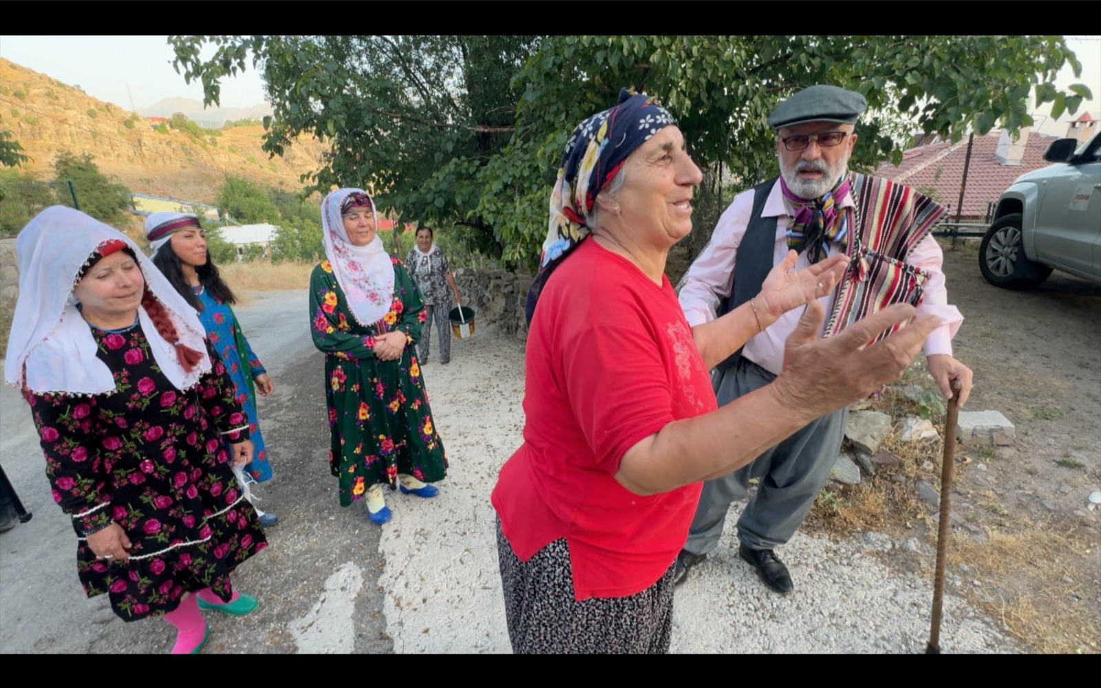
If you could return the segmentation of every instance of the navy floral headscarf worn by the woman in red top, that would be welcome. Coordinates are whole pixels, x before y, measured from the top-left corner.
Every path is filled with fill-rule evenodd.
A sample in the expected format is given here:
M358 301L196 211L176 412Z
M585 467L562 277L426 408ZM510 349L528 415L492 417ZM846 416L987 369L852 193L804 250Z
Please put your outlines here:
M615 177L635 149L669 124L676 124L676 120L653 98L624 88L615 107L597 112L574 129L550 193L550 219L539 272L527 292L528 325L547 277L589 236L588 221L597 194Z

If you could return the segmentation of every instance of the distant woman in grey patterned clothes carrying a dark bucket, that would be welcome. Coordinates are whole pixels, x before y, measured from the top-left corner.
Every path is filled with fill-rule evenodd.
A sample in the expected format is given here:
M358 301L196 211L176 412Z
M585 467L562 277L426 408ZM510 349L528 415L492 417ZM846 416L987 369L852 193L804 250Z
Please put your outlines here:
M429 346L432 324L435 321L436 331L439 334L439 362L446 365L451 360L451 328L447 321L451 306L450 296L455 296L456 304L461 304L462 298L459 295L459 285L455 283L455 276L447 264L447 256L433 238L434 232L430 227L422 225L416 228L416 245L410 249L408 255L405 256L405 266L421 288L428 318L421 332L421 342L417 345L417 359L422 365L428 362L428 354L432 351ZM451 287L451 294L447 293L448 286Z

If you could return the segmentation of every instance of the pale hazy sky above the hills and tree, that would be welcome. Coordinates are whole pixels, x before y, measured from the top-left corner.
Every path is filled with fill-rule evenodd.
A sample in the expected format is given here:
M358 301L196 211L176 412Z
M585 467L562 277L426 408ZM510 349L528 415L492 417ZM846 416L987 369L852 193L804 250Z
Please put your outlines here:
M1101 36L1068 36L1071 50L1082 63L1082 74L1075 79L1065 69L1056 81L1060 88L1080 81L1093 92L1093 99L1078 109L1075 117L1088 111L1101 119ZM208 54L214 48L208 47ZM89 96L130 109L143 108L162 98L179 96L203 99L199 84L185 84L172 68L174 57L167 36L8 36L0 35L0 57L46 74L64 84L79 85ZM130 87L130 95L127 87ZM260 75L251 68L221 84L224 107L247 108L264 102ZM1034 113L1043 133L1064 135L1067 114L1053 121L1045 107Z

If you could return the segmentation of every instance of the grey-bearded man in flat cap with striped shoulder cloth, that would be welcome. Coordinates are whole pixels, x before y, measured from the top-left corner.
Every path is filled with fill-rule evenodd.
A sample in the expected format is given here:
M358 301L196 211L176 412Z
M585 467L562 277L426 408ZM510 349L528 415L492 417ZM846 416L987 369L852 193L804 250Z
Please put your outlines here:
M695 328L751 301L789 250L798 253L796 270L841 251L849 256L844 277L820 299L830 314L824 336L897 302L915 305L918 315L940 316L944 324L926 339L924 352L946 398L951 381L960 381L962 406L971 370L952 358L951 339L963 317L948 304L944 255L930 233L946 209L909 187L849 172L854 125L865 108L860 94L818 85L772 111L781 175L739 194L722 214L682 280L680 306ZM799 316L798 310L780 316L716 369L720 405L772 382ZM774 548L795 534L828 480L847 417L848 409L822 416L744 468L707 481L677 556L676 582L718 546L730 504L749 496L750 481L757 479L738 520L739 555L768 588L791 592L791 575Z

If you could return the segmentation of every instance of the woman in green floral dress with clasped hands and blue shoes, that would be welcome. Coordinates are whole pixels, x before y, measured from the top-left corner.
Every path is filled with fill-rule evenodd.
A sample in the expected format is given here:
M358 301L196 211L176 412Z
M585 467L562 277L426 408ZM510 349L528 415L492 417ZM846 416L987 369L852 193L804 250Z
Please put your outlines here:
M326 259L309 277L314 345L325 352L329 467L340 505L366 499L391 518L382 487L432 498L447 474L413 345L425 321L416 283L378 237L374 201L341 188L321 204Z

